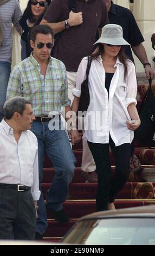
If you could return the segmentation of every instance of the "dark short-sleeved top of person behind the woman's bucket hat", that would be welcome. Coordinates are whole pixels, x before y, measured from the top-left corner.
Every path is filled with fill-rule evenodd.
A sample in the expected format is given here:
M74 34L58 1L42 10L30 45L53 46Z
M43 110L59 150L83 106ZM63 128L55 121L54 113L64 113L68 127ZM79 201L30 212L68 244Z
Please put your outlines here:
M112 2L108 16L110 23L118 24L122 27L123 37L131 46L144 42L143 35L130 10ZM126 45L124 47L127 57L133 61L130 46Z

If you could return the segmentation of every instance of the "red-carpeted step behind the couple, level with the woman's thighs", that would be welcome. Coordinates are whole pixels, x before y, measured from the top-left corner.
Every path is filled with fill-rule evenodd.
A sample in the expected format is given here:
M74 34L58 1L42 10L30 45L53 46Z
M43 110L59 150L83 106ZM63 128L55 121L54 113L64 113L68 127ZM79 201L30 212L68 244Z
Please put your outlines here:
M145 154L143 154L145 152ZM81 162L82 162L82 150L74 150L74 154L76 157L76 167L80 167L81 166ZM155 149L135 149L134 154L137 155L137 157L140 159L141 164L154 164L155 163ZM114 157L112 152L109 153L110 155L110 159L111 159L111 165L114 166L115 165L115 161L114 161ZM48 168L48 167L52 167L52 163L50 162L50 160L48 159L47 156L45 156L45 160L44 160L44 168Z

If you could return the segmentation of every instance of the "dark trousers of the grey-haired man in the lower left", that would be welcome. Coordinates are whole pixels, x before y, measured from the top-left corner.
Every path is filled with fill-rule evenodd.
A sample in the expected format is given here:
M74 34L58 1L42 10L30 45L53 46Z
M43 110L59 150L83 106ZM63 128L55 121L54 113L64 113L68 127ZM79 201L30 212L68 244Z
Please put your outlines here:
M34 240L35 228L31 191L0 187L0 239Z

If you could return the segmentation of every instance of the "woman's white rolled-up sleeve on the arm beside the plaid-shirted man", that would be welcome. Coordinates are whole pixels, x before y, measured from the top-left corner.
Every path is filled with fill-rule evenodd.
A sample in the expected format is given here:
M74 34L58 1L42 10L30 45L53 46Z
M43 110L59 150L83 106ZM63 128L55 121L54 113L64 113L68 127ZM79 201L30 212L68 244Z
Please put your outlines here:
M72 94L76 97L81 95L81 83L86 80L88 58L85 57L81 60L76 76L76 87L72 90Z

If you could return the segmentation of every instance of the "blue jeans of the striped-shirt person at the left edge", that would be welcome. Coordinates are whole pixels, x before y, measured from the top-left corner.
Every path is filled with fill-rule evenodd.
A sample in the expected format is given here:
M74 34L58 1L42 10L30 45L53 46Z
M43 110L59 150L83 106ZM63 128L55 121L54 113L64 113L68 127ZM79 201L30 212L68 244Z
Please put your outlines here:
M11 72L11 64L9 62L0 62L0 121L4 117L4 102L7 95L7 87Z

